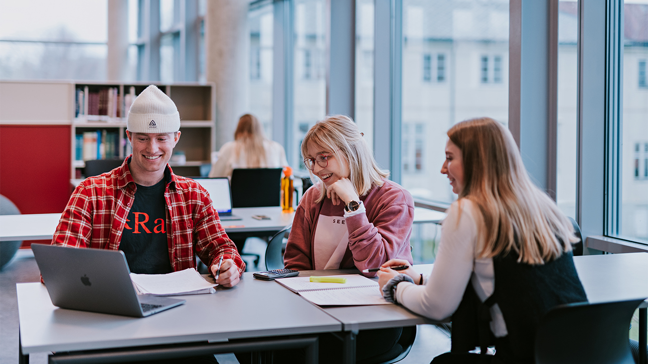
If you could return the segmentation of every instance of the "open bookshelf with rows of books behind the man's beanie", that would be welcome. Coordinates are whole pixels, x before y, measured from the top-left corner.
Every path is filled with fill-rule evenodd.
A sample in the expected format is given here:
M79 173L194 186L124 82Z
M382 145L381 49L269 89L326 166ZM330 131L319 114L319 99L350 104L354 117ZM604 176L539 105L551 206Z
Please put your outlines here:
M132 152L126 137L126 115L133 100L150 83L75 82L71 133L71 178L82 178L89 159L124 159ZM156 84L178 107L181 137L169 164L181 176L200 176L216 149L216 95L213 84Z

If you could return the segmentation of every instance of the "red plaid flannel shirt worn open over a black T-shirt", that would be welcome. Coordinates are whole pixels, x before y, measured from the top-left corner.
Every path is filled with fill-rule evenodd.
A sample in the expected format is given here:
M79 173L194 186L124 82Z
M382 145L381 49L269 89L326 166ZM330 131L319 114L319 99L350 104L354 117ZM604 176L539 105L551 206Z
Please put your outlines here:
M135 199L130 156L111 172L89 177L75 188L52 239L54 245L118 250L128 212ZM174 271L196 267L195 255L206 265L231 258L238 272L245 263L227 237L209 194L196 181L176 176L167 165L168 257Z

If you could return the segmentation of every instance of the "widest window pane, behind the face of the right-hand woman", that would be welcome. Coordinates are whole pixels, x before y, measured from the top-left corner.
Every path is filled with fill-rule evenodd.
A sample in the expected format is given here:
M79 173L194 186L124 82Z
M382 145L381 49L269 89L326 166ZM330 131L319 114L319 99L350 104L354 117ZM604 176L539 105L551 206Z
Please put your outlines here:
M509 1L404 0L402 185L415 198L456 198L441 175L446 131L508 120Z

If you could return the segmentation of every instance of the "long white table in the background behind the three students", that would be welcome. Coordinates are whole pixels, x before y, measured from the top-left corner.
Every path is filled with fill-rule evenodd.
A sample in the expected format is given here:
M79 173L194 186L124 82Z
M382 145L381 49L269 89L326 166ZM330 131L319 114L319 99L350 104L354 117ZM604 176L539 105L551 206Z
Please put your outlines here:
M222 225L226 233L280 231L292 223L294 212L281 212L281 207L239 207L232 213L243 220L227 220ZM256 220L252 215L266 215L270 220ZM11 240L51 240L61 214L0 215L0 242ZM445 213L414 208L414 223L438 223Z

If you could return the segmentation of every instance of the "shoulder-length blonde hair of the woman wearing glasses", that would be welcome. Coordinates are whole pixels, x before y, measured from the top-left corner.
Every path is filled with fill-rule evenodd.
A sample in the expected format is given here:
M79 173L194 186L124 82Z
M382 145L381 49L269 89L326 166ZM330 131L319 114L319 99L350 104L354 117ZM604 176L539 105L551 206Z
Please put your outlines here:
M330 150L338 160L349 163L349 179L358 196L367 194L374 186L382 186L382 179L389 176L388 171L378 168L363 134L346 115L329 115L308 130L301 142L301 155L304 158L308 155L308 144L311 143ZM324 191L324 184L320 183L320 194L316 202L326 197Z

